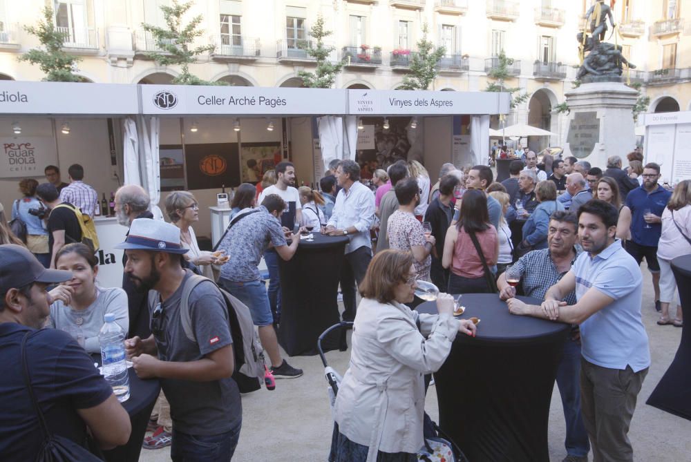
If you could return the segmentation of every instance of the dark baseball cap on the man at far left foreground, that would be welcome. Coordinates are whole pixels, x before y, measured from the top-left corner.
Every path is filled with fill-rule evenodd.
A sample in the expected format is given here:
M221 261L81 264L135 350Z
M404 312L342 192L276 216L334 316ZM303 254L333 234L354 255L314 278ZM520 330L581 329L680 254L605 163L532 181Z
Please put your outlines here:
M0 295L32 282L57 284L72 278L72 271L46 269L26 248L17 244L0 245Z

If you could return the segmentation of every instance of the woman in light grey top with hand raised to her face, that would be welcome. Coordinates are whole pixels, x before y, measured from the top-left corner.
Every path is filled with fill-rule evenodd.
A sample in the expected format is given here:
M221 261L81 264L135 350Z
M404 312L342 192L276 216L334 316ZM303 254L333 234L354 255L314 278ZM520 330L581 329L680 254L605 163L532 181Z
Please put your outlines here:
M67 331L88 353L101 351L98 333L106 314L115 314L115 322L127 333L127 294L120 287L96 285L98 260L90 247L81 242L61 247L55 267L72 271L72 279L49 292L54 301L46 327Z

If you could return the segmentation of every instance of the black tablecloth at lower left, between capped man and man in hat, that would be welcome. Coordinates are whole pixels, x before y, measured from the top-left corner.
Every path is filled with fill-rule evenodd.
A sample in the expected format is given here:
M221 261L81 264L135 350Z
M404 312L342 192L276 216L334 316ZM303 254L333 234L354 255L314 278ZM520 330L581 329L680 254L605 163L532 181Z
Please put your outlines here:
M101 356L92 354L93 359L101 364ZM104 451L108 462L137 462L142 451L142 442L146 434L146 424L149 423L149 416L156 403L156 398L161 386L158 380L150 378L142 380L134 371L133 367L127 369L130 381L130 397L122 403L132 423L132 433L130 439L124 446Z

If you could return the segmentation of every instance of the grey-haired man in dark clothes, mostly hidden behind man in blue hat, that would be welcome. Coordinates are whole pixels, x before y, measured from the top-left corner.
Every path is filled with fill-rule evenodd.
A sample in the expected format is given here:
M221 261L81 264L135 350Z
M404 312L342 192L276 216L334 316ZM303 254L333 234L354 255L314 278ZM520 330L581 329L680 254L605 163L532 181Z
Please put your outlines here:
M115 218L124 227L130 226L137 218L153 218L149 211L151 200L142 186L126 184L115 192ZM122 266L127 264L127 256L122 256ZM129 309L129 336L147 338L151 335L149 309L146 307L146 293L138 291L126 273L122 275L122 289L127 293Z

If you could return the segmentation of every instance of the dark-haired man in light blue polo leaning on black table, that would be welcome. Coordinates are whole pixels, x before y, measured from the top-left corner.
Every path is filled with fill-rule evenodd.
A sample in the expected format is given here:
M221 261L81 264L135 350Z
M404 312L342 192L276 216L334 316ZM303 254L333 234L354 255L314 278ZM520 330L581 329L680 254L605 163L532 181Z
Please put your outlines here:
M627 433L650 367L643 278L616 238L617 219L612 204L585 203L578 209L584 252L574 267L547 289L541 306L507 300L511 314L580 325L581 412L596 461L633 461ZM574 290L576 303L569 305L563 300Z

